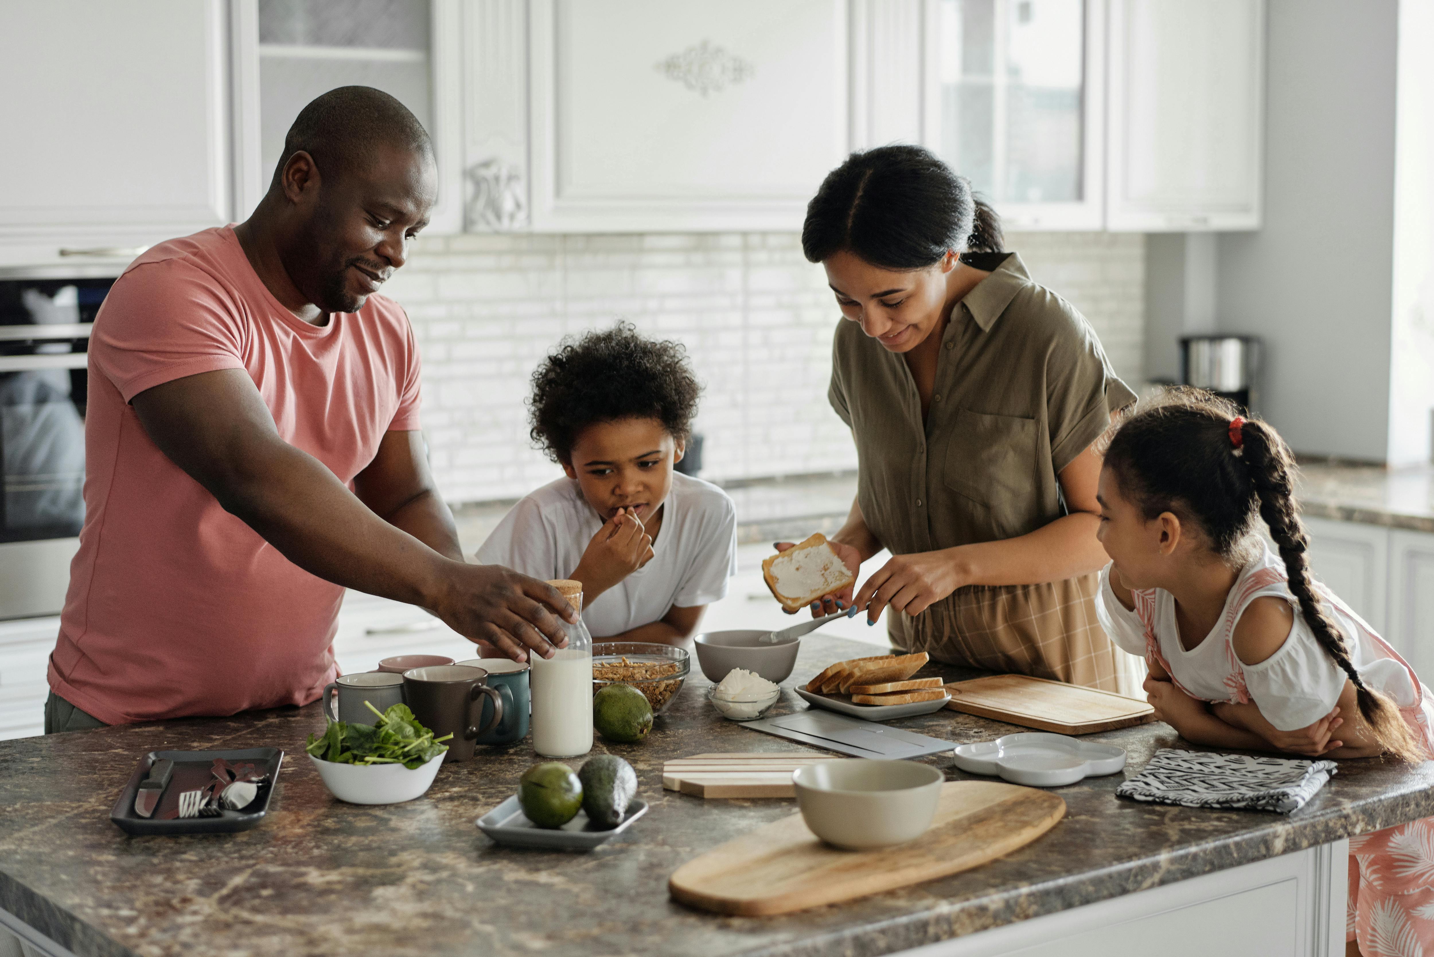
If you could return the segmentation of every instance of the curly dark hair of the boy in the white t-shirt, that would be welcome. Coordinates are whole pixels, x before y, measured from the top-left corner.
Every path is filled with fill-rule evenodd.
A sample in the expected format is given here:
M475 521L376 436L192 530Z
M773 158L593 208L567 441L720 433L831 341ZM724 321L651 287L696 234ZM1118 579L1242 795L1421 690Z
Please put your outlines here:
M565 463L595 422L657 419L685 442L701 386L681 343L645 339L631 323L565 339L533 370L528 420L533 442Z

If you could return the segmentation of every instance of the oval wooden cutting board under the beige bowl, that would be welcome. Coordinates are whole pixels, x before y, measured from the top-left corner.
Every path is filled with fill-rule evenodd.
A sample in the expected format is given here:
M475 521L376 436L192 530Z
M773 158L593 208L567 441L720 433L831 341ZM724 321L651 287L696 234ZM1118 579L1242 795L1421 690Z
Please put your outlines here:
M1048 791L995 781L941 788L921 838L879 851L823 844L800 814L744 834L677 868L673 900L718 914L761 917L880 894L979 867L1041 836L1065 815Z

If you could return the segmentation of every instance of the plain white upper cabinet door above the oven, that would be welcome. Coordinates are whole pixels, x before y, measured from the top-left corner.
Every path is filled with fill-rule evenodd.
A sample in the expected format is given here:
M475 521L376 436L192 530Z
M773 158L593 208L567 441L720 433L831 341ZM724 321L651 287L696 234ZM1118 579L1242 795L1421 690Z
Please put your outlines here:
M113 273L229 215L222 0L7 3L0 265Z

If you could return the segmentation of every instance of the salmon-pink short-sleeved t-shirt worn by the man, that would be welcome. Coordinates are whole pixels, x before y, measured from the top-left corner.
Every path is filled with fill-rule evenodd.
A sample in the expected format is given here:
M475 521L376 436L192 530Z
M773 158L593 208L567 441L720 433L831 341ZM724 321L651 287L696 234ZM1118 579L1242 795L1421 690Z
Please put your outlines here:
M89 349L85 527L50 687L112 725L307 704L334 677L343 588L298 568L171 462L129 400L242 369L278 433L344 484L419 428L419 354L396 303L295 319L234 230L156 245L110 288Z

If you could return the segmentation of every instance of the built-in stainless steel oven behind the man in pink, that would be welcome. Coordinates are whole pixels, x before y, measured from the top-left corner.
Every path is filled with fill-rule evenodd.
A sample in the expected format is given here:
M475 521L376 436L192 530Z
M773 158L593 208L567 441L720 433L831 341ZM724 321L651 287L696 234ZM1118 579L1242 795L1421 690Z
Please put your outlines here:
M0 280L0 618L57 614L85 522L86 349L113 280Z

